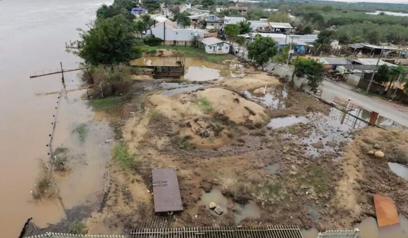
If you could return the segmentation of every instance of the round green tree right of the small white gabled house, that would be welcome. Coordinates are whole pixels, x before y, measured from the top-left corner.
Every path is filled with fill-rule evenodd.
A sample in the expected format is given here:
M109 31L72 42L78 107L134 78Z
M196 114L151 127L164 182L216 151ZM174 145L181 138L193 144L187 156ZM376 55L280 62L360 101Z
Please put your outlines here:
M262 65L278 53L278 43L271 37L256 36L247 50L248 58Z

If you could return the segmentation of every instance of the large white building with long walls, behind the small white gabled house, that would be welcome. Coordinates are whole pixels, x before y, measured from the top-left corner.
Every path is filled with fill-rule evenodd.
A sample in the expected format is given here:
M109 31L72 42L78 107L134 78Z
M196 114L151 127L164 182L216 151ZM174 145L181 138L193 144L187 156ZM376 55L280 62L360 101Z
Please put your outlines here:
M198 39L204 38L206 30L179 29L177 23L165 20L150 27L151 34L164 40L165 45L190 46Z

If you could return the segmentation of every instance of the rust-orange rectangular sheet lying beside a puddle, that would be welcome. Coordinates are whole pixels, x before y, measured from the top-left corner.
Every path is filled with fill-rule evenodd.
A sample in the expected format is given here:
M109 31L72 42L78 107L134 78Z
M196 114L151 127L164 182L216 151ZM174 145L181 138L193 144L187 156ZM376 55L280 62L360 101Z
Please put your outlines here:
M400 223L395 202L388 197L374 194L378 227L385 227Z

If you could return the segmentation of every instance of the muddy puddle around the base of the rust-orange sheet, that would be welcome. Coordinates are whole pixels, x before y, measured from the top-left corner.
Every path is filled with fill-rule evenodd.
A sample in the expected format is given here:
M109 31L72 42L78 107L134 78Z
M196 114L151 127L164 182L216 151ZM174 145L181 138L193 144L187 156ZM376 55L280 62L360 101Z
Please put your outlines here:
M400 216L400 224L393 226L377 226L377 220L373 217L364 219L356 226L360 230L361 238L407 238L408 237L408 219Z

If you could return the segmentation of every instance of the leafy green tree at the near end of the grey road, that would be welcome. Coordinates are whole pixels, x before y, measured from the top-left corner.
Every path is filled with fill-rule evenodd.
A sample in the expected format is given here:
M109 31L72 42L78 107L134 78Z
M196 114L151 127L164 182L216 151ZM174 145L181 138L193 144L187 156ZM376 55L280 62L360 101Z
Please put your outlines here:
M323 73L323 64L312 59L300 57L295 61L295 70L292 75L292 80L295 75L299 78L306 77L311 87L317 87L323 80Z

